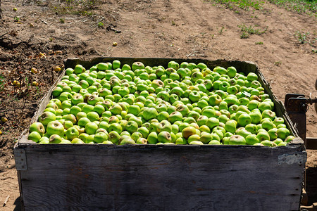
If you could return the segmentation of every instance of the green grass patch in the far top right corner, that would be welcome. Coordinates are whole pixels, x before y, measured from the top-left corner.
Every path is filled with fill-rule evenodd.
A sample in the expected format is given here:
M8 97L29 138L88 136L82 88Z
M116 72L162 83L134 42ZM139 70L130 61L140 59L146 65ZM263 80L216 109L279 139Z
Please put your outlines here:
M317 17L317 1L316 0L268 0L272 4L284 7L287 10L297 13L306 13Z

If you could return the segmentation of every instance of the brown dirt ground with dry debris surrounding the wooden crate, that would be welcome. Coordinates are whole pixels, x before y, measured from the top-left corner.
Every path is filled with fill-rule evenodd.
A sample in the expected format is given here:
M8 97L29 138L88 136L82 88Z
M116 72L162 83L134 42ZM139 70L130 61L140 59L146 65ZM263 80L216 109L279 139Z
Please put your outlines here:
M8 200L0 210L20 210L13 145L58 77L53 69L66 58L250 60L259 65L280 101L287 93L317 96L317 25L312 16L267 1L260 11L230 10L198 0L71 2L1 1L0 117L8 121L0 124L0 207ZM262 33L242 39L242 25ZM14 80L20 88L13 87ZM307 136L317 136L316 117L310 106ZM308 150L308 155L306 191L311 204L317 202L317 151Z

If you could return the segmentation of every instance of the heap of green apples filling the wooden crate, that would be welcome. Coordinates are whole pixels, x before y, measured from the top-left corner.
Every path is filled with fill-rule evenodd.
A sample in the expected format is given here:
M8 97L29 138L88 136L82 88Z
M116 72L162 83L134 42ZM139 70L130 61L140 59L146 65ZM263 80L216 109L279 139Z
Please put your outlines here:
M31 124L37 143L286 146L294 139L254 72L204 63L66 69Z

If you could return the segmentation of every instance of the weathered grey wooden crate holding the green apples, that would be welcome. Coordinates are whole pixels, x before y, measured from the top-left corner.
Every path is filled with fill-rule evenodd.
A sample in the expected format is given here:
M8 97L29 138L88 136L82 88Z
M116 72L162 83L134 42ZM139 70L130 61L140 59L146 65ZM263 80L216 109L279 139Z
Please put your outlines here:
M71 59L89 68L119 59L165 65L168 58ZM259 68L250 62L186 60L256 72L294 136L285 108ZM63 74L61 75L63 76ZM60 77L61 79L61 77ZM44 96L32 122L51 98ZM23 210L299 210L306 151L297 138L288 146L168 146L101 144L39 145L27 130L15 145Z

